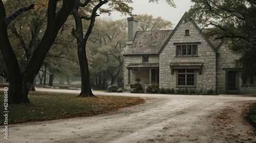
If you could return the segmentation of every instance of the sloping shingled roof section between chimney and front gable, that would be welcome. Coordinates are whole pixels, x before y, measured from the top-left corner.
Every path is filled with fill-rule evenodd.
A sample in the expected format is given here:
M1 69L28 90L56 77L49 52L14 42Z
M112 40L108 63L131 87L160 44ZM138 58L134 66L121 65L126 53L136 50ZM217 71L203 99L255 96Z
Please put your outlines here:
M131 45L126 45L123 55L158 54L173 30L137 31Z

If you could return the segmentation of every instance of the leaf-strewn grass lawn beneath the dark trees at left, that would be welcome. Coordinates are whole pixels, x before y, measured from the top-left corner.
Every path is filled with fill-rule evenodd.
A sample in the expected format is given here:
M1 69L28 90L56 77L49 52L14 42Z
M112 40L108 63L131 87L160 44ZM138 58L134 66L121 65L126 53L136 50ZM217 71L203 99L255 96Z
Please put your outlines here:
M78 98L77 94L29 92L30 104L8 105L8 122L26 123L32 121L56 120L79 116L92 116L144 103L141 98L97 96ZM1 121L4 120L4 92L0 92ZM0 122L3 125L3 122Z

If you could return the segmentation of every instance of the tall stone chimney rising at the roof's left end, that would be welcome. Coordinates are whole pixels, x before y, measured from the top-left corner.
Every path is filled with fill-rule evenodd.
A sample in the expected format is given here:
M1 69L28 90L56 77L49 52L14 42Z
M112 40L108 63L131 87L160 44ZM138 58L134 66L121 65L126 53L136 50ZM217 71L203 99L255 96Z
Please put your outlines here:
M134 17L128 17L127 21L128 21L128 41L126 44L132 44L134 36L138 30L138 27L137 27L138 19Z

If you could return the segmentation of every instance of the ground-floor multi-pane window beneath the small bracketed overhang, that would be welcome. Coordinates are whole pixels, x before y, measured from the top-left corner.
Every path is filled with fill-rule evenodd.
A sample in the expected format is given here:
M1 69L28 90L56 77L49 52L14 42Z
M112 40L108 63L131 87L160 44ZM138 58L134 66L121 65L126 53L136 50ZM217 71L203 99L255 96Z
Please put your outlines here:
M178 69L178 86L195 86L195 69Z

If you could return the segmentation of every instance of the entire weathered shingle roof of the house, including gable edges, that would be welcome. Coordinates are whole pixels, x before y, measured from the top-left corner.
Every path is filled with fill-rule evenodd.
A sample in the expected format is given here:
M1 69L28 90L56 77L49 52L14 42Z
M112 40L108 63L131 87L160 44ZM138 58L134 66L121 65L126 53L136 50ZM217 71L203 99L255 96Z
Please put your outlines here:
M224 40L216 40L214 37L207 38L203 33L204 30L202 31L195 21L186 15L187 13L185 12L174 30L137 31L133 43L126 45L123 55L159 55L185 18L193 23L212 51L217 54Z

